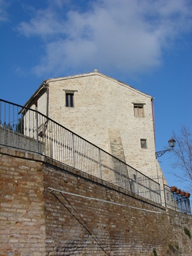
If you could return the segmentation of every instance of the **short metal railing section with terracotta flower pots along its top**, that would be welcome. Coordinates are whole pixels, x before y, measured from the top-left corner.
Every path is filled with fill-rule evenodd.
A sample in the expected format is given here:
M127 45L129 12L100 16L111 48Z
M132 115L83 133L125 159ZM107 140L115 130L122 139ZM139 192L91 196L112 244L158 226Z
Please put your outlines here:
M165 207L171 208L180 213L191 214L189 197L171 191L171 187L164 185Z

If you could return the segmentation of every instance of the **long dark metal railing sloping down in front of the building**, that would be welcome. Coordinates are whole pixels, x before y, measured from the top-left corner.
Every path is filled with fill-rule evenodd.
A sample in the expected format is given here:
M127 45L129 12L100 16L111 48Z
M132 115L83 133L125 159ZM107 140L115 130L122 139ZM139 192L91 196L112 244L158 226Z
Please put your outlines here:
M0 145L45 155L161 204L160 185L42 113L0 99Z

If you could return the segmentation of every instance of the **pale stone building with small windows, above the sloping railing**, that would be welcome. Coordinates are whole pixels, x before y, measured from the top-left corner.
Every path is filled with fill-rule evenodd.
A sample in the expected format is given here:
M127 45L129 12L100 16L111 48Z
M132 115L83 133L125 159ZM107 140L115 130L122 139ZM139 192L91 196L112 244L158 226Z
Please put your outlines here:
M25 107L36 109L155 179L153 97L97 70L43 81Z

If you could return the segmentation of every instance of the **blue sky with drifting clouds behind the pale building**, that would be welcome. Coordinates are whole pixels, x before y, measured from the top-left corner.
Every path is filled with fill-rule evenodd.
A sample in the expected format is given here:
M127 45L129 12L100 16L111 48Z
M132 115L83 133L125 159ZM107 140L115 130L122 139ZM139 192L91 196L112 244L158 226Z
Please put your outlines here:
M0 98L23 105L43 80L99 72L155 98L156 149L192 130L191 0L0 0ZM171 154L159 161L179 183Z

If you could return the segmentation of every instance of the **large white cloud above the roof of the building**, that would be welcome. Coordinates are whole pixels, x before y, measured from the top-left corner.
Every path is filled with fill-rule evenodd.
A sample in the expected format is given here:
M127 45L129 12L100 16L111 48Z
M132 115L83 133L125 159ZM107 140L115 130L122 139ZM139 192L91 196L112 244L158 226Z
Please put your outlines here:
M62 1L37 10L18 26L26 37L45 43L37 75L68 70L107 69L142 73L161 65L162 51L190 31L188 0L94 1L87 11L66 9Z

